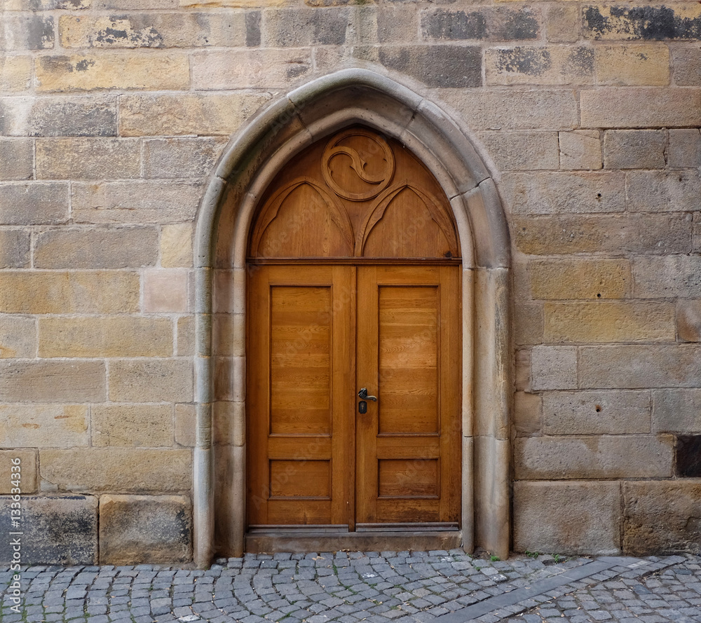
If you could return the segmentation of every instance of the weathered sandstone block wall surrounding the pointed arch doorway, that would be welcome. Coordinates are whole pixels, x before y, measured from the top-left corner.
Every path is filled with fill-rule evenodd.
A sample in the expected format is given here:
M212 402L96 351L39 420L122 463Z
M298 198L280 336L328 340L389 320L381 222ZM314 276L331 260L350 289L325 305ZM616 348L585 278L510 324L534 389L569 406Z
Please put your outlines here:
M75 535L29 561L191 558L198 205L254 113L346 67L442 108L501 194L514 548L699 551L699 41L690 1L4 0L0 493L19 456L37 538Z

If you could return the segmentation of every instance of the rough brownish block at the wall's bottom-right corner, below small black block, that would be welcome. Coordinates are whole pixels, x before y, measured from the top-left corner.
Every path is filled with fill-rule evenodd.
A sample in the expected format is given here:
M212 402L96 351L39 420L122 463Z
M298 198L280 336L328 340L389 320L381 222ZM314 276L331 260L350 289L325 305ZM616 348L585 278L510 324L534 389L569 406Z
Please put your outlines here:
M701 552L701 481L624 482L622 493L625 554Z

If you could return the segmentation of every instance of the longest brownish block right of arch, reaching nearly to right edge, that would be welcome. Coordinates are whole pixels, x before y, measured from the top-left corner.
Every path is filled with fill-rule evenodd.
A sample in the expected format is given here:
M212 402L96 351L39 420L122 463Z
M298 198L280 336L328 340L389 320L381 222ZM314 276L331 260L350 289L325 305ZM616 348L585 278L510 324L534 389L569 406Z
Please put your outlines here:
M516 217L512 232L517 248L533 255L688 253L692 246L692 222L687 214Z

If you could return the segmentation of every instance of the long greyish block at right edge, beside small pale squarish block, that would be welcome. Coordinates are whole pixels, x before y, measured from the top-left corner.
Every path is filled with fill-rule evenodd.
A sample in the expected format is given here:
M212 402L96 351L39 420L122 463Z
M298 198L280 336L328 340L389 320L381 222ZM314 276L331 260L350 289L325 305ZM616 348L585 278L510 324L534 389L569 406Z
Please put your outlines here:
M580 388L690 388L701 378L694 344L580 348Z

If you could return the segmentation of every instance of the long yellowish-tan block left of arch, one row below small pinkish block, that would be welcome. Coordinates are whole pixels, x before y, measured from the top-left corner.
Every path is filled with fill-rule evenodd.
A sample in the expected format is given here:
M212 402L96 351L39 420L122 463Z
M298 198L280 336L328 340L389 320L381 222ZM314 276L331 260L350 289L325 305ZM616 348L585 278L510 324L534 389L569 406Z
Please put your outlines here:
M39 319L39 357L170 357L172 322L139 316Z

